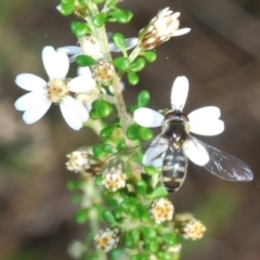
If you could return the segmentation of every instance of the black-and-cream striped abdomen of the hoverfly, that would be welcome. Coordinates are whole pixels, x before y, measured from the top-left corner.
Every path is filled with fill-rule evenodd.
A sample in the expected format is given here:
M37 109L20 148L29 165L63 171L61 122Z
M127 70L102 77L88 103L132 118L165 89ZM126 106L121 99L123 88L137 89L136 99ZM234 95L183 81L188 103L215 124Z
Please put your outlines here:
M186 177L187 159L183 151L171 148L166 151L162 164L162 183L168 192L177 192Z

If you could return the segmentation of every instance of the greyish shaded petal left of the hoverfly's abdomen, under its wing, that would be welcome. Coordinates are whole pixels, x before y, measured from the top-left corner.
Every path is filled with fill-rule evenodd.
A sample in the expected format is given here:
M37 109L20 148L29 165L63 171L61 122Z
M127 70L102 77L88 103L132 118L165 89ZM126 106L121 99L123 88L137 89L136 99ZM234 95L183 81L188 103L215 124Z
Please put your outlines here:
M161 166L162 159L164 159L162 155L165 154L165 151L167 150L167 147L168 147L168 142L165 139L160 139L159 141L158 141L158 139L154 140L151 143L151 146L147 148L147 151L144 154L143 161L142 161L143 165L144 166L151 166L151 165L154 166L154 164L155 164L156 166L154 166L154 167ZM158 160L158 158L160 158L160 159ZM160 160L161 160L161 162L160 162Z

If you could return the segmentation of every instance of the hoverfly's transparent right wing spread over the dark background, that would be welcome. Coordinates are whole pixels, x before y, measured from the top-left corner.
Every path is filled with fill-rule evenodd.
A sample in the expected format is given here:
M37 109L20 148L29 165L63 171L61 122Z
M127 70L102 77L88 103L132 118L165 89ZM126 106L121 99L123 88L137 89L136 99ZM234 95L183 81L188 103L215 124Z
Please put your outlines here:
M209 161L204 166L212 174L227 181L251 181L253 174L251 169L240 159L225 152L219 151L195 138L209 154Z

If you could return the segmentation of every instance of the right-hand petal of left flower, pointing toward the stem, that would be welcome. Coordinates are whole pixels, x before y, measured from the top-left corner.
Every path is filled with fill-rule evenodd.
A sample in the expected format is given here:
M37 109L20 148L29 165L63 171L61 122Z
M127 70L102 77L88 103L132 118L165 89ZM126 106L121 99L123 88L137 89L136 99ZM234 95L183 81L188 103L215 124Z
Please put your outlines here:
M86 92L95 87L95 80L89 76L79 76L68 82L68 88L73 92Z

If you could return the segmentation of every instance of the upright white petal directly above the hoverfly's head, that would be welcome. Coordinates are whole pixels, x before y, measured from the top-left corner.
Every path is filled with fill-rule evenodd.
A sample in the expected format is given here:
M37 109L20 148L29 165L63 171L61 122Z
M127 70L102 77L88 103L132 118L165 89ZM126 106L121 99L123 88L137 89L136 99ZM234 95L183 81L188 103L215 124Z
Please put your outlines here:
M186 77L177 77L171 90L171 106L172 109L182 110L185 105L188 92L188 80Z

